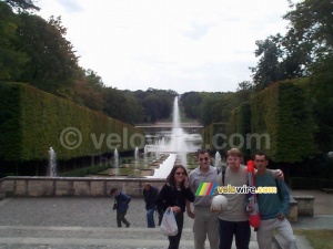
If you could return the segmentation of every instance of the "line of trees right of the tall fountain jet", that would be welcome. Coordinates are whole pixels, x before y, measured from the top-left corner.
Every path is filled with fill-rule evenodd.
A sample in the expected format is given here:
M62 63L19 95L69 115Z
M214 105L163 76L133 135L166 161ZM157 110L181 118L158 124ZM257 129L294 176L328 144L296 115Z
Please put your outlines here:
M239 83L235 93L183 94L188 116L205 126L230 120L231 111L275 82L299 79L312 108L319 152L333 151L333 2L306 0L290 2L283 17L289 21L285 35L270 35L255 42L256 66L250 68L252 81ZM309 82L303 84L302 82ZM300 96L293 95L302 101Z

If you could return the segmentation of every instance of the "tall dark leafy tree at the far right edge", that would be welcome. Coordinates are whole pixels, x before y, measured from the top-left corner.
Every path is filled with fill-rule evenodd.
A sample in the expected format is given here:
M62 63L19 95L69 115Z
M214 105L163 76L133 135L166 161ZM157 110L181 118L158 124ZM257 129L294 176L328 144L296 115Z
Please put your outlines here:
M321 152L333 149L333 3L332 0L306 0L292 6L284 19L290 21L286 38L311 62L313 114L319 127L316 143Z

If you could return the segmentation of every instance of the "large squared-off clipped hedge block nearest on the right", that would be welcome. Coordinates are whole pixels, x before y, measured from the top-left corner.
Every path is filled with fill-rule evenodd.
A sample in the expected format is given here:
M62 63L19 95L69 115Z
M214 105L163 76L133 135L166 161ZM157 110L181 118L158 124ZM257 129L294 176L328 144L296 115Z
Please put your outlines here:
M302 162L316 152L311 105L295 82L278 82L251 100L251 132L270 138L251 149L264 151L275 163Z

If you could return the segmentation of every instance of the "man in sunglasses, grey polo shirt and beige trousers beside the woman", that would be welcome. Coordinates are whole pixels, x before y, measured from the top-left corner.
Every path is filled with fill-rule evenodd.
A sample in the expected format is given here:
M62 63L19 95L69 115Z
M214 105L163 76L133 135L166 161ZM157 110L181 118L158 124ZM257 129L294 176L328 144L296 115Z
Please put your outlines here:
M216 183L218 169L211 166L210 154L205 149L198 152L199 167L190 173L190 188L193 193L201 183ZM210 196L195 196L194 212L191 205L186 203L188 216L194 219L194 248L204 249L204 241L208 237L211 249L219 248L219 214L212 212Z

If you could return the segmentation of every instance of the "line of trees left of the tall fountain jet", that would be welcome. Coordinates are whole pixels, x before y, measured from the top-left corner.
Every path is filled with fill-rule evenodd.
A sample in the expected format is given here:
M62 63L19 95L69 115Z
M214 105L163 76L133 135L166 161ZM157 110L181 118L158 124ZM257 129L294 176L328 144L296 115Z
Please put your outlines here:
M107 86L82 69L61 17L34 14L33 1L0 1L0 82L23 82L129 124L168 118L176 92Z

